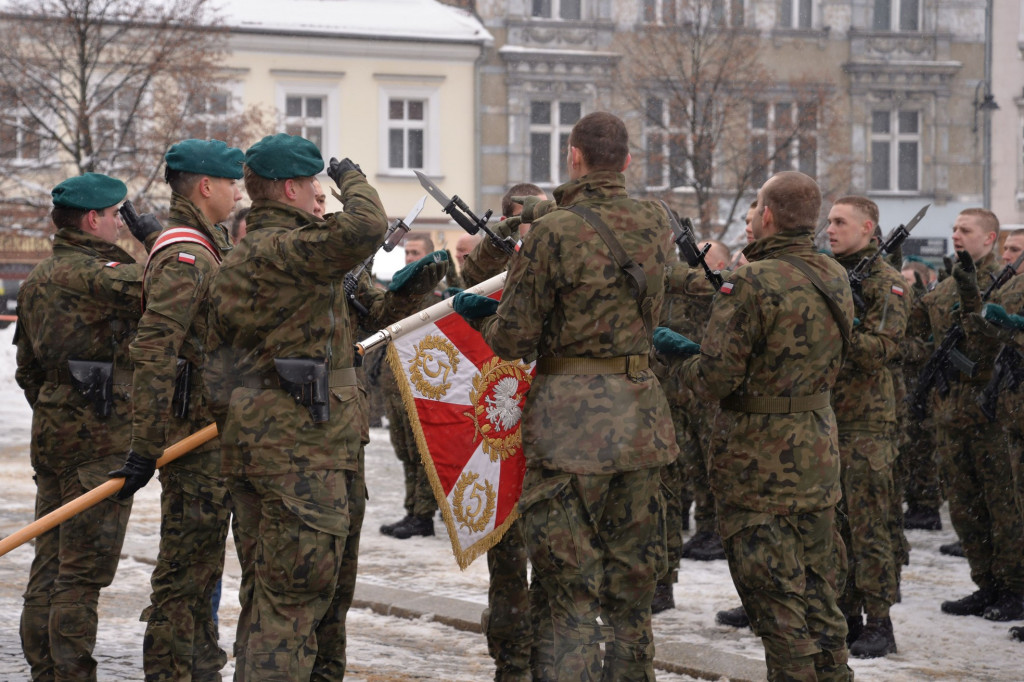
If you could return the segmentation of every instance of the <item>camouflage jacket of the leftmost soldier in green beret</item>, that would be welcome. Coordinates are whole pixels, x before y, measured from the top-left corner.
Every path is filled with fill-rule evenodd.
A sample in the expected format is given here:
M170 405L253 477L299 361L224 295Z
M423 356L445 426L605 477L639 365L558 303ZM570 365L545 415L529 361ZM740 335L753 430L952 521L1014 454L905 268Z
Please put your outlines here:
M17 294L17 370L33 408L32 464L59 468L127 451L131 384L114 385L111 416L99 419L71 385L69 359L114 363L130 372L128 343L141 313L142 266L121 248L77 229L60 229L53 255Z

